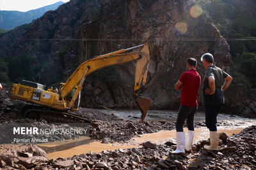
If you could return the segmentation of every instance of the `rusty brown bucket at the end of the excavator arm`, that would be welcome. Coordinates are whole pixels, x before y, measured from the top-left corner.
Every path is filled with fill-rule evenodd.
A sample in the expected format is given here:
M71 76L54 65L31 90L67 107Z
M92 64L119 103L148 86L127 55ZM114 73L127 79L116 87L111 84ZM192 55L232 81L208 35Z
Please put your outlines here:
M141 122L143 122L145 117L147 116L151 100L148 99L147 97L138 96L135 100L135 103L137 104L138 108L140 108L140 111L141 111L140 119L141 119Z

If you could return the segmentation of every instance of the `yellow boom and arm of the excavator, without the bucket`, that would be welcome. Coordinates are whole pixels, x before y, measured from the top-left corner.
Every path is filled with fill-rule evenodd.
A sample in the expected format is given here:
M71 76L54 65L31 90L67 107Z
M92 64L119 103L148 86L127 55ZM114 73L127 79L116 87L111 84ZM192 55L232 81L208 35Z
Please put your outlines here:
M140 45L141 46L141 45ZM136 46L138 47L138 46ZM123 64L125 62L130 62L132 60L137 61L136 72L135 72L135 82L134 91L140 89L141 80L145 84L147 78L148 64L149 64L149 51L148 46L144 45L140 52L124 53L132 48L127 48L125 50L119 50L117 52L107 53L106 55L100 55L93 59L87 60L79 67L76 71L68 78L67 82L60 89L61 97L66 97L70 92L79 85L84 77L89 74L101 69L103 67L113 66L117 64Z

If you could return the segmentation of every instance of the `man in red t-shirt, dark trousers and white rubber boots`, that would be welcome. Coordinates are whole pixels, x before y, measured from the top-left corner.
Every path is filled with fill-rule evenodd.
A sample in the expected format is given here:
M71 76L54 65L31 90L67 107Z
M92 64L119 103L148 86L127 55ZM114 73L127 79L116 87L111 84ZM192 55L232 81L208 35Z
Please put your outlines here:
M197 61L194 58L188 59L187 70L182 73L179 81L175 84L175 90L181 90L180 108L176 120L177 148L172 153L185 153L191 150L194 138L194 115L197 109L197 94L201 83L201 77L196 72ZM188 135L185 139L183 124L187 120Z

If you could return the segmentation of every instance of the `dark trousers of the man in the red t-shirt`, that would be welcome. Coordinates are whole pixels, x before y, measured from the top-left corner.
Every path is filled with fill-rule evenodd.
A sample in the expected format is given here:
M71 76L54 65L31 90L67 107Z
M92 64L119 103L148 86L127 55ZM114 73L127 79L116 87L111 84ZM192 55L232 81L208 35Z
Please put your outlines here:
M194 115L196 113L196 107L181 106L179 108L178 117L176 120L176 131L183 132L183 125L187 120L188 130L194 131Z

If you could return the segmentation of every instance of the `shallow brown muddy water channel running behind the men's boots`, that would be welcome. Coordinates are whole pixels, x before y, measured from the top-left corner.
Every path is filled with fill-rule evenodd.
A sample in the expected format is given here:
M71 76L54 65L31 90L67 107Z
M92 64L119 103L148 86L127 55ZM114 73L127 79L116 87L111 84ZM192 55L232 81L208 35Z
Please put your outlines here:
M228 136L241 132L244 127L218 127L219 132L225 132ZM184 132L188 129L184 128ZM159 131L151 134L142 134L140 137L132 138L126 144L112 143L104 144L88 137L79 137L77 139L68 139L65 141L56 141L52 143L39 144L40 148L45 150L49 159L57 159L58 157L68 158L74 155L80 155L88 152L102 152L103 150L116 150L119 148L138 148L141 143L151 141L156 144L163 144L166 141L175 142L176 131ZM209 138L209 130L206 127L195 128L194 143L202 139Z

